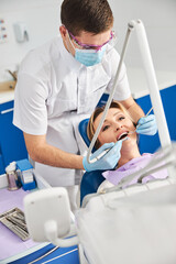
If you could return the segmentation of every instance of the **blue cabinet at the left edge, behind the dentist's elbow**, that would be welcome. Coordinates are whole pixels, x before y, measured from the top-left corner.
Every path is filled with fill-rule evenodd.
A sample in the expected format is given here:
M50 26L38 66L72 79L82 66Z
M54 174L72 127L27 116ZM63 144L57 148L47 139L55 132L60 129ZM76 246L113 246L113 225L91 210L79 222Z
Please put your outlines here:
M0 105L0 174L13 161L28 157L23 133L12 124L13 103L8 101Z

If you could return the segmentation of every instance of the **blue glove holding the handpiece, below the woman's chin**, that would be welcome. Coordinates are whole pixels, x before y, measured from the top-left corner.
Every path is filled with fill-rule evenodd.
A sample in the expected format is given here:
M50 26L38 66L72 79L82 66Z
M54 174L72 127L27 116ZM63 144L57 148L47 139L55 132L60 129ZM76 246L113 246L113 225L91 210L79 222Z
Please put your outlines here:
M105 154L100 160L95 163L88 163L87 156L84 157L82 164L86 172L100 170L100 169L112 169L117 165L119 158L121 157L120 150L122 147L122 142L117 143L106 143L100 148L98 148L91 156L90 161L98 155L100 155L105 150L112 147L107 154Z

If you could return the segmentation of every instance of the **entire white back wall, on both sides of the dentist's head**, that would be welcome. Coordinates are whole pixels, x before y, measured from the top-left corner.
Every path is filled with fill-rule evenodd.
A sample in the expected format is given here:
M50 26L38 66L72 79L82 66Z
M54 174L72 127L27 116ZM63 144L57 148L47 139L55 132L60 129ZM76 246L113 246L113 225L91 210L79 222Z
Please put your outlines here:
M176 73L176 0L109 0L121 52L127 24L132 19L144 22L154 65ZM0 0L0 19L4 19L9 41L0 44L0 81L10 79L7 68L14 70L29 50L58 34L62 0ZM25 22L30 42L18 43L13 24ZM141 67L135 33L132 34L125 64Z

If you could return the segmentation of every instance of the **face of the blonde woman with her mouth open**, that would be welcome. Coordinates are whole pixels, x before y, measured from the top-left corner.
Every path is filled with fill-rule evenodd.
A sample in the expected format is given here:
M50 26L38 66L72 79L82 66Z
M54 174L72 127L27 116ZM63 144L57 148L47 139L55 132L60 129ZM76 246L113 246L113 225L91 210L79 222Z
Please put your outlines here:
M100 113L97 119L95 120L95 130L97 130L98 124L101 120L102 113ZM128 135L133 142L136 142L136 133L129 134L130 131L134 131L135 127L131 119L125 116L120 109L118 108L110 108L108 110L106 120L101 128L101 131L98 135L98 140L101 145L105 143L117 142L122 140ZM125 141L129 142L129 141ZM131 142L132 143L132 142Z

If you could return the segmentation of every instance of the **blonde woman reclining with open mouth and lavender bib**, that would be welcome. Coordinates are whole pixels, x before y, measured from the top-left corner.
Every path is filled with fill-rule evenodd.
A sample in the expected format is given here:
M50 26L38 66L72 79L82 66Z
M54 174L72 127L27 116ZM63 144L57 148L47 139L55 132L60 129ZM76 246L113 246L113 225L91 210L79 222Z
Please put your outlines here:
M89 140L98 128L105 107L97 108L90 117L87 134ZM132 133L133 132L133 133ZM101 184L101 188L118 185L120 180L134 172L145 167L152 161L155 154L140 154L138 147L138 135L135 132L135 123L130 117L124 107L113 101L108 110L106 120L98 135L95 147L99 148L105 143L117 142L128 136L128 140L122 142L121 157L114 170L107 170L102 176L108 180ZM153 173L142 179L142 183L147 183L152 179L164 179L168 176L166 169ZM138 179L133 179L129 185L135 184Z

